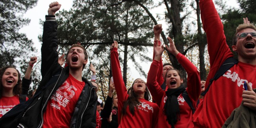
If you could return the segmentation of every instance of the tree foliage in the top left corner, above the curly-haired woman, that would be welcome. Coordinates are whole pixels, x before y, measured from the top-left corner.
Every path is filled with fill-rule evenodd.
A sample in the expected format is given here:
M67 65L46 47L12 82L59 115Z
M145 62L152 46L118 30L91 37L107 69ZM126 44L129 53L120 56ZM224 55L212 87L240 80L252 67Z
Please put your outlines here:
M36 52L33 42L19 29L28 25L23 14L36 5L37 0L0 1L0 67L20 64L31 52ZM18 60L18 61L17 61Z

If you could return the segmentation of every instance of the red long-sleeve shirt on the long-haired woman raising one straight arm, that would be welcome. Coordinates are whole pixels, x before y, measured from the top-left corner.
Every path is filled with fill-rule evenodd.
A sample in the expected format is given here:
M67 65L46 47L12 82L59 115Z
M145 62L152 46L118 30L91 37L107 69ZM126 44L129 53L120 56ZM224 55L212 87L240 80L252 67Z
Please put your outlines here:
M127 94L122 78L117 48L113 48L111 51L111 66L116 93L118 95L119 128L157 128L159 107L157 104L145 99L139 99L141 104L138 105L138 110L135 109L134 116L131 114L128 107L126 108L126 114L122 115L121 110L124 106L123 103L128 99L129 95Z

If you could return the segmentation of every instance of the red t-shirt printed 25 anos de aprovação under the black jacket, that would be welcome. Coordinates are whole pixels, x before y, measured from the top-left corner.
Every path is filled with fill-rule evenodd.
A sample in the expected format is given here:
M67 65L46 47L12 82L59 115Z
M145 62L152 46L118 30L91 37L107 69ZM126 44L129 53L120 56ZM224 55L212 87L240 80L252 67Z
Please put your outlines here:
M69 128L76 102L85 82L76 80L71 74L50 97L43 114L43 128Z

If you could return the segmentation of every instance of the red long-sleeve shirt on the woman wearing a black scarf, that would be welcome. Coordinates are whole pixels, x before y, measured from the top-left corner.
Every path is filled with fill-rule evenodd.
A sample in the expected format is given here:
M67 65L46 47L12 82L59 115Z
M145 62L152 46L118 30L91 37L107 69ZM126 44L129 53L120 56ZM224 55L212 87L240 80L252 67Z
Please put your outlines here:
M187 93L189 98L196 108L196 103L201 93L200 86L200 75L197 68L182 54L176 56L178 62L187 71ZM161 89L157 82L157 72L159 70L159 61L154 60L150 66L149 73L147 76L147 87L151 95L155 98L157 105L160 107L158 116L158 127L160 128L171 128L171 125L166 121L167 117L163 112L164 104L166 102L166 93ZM180 108L180 121L175 124L177 128L192 128L194 125L192 123L192 110L189 105L185 102L182 94L178 96L179 108Z

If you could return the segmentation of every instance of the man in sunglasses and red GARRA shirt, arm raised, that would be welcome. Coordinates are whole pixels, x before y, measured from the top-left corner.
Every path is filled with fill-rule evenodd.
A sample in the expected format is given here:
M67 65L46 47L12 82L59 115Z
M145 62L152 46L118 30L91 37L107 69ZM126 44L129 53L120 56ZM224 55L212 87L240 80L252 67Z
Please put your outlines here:
M212 0L200 0L201 19L208 42L210 71L206 80L214 77L221 64L234 55L226 43L223 24ZM220 128L231 112L244 102L244 106L256 111L256 27L244 19L234 35L232 49L238 54L238 63L220 78L213 81L193 115L195 127ZM248 91L244 89L244 83Z

